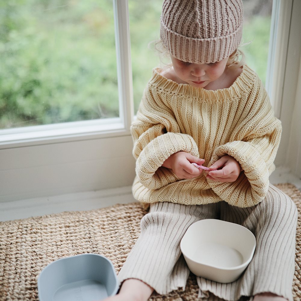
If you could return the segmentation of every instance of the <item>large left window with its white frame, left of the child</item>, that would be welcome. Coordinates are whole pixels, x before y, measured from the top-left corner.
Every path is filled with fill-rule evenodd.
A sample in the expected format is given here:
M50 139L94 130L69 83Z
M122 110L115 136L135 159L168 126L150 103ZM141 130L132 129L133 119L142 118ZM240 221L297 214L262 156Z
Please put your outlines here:
M127 2L15 0L5 12L2 147L128 133L133 113Z

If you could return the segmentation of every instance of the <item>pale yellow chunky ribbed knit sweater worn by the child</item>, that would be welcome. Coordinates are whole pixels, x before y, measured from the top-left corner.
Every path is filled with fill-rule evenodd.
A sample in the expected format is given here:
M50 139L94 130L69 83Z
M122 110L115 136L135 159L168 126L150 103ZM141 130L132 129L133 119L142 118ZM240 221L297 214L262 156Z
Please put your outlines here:
M265 197L281 136L262 82L247 65L230 88L216 91L178 84L153 70L131 126L136 159L133 195L153 202L208 204L225 200L253 206ZM243 169L235 182L180 180L163 162L178 151L210 166L228 154Z

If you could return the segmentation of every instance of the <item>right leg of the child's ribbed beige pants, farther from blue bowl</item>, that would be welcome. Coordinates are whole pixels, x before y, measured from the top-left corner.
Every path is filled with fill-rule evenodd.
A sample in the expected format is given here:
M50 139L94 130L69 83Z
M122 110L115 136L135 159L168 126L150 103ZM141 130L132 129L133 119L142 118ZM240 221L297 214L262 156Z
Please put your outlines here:
M271 292L293 300L297 209L293 201L270 185L256 206L239 208L222 202L221 219L245 226L256 237L256 250L243 275L229 284L198 278L200 293L212 292L226 299Z

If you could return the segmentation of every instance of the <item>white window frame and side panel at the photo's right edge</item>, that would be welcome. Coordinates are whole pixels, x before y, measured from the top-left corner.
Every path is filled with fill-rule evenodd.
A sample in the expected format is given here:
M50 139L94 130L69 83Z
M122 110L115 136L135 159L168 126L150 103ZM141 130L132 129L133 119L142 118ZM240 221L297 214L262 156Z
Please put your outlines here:
M272 10L267 91L282 122L275 165L291 182L301 180L301 1L274 0Z

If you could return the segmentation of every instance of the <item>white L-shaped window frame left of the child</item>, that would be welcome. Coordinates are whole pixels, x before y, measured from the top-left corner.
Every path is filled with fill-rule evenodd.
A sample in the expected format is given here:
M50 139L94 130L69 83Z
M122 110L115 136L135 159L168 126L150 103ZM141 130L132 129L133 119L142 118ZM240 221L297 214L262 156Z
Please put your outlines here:
M0 130L0 149L129 135L134 116L128 2L113 0L119 117Z

